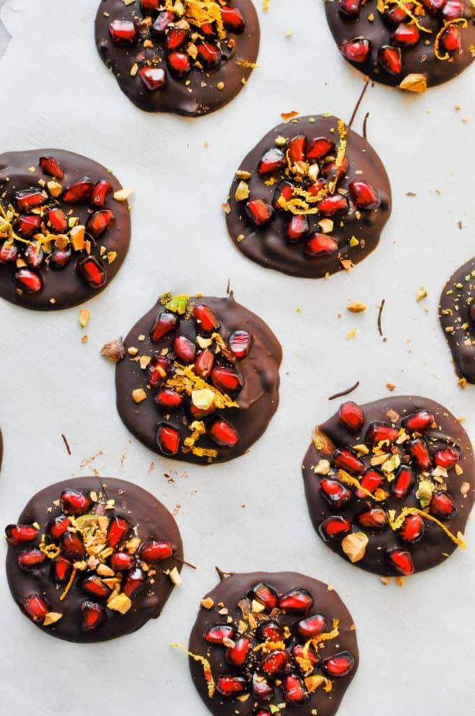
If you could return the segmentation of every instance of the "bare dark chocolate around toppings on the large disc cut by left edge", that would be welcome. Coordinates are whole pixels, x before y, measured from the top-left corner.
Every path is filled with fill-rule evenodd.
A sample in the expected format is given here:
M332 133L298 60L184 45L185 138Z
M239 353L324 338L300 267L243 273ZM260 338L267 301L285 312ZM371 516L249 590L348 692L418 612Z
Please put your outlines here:
M89 176L93 182L106 179L112 184L113 192L122 189L117 178L107 170L106 167L92 159L82 155L68 152L62 149L40 149L26 152L10 152L0 155L0 198L5 205L14 204L14 193L29 188L41 188L38 180L48 182L51 176L44 173L39 167L39 158L53 156L64 170L64 179L59 180L63 188L77 182L84 176ZM34 173L28 171L34 167ZM6 179L9 178L9 181ZM5 195L4 195L5 193ZM53 201L54 205L64 211L67 216L79 218L79 224L87 222L94 207L88 202L65 203L59 197ZM119 202L112 198L112 193L107 197L103 208L110 209L115 216L114 223L103 236L99 237L94 245L92 240L91 256L103 266L107 274L107 281L100 288L92 288L77 271L77 262L87 256L85 251L73 251L72 260L64 269L51 269L46 261L41 263L36 271L41 274L44 286L35 294L28 294L25 291L18 293L16 284L13 281L13 274L16 271L15 262L0 264L0 296L11 303L24 306L25 308L37 311L59 311L60 309L71 308L78 304L89 301L103 291L119 271L130 243L130 212L127 201ZM115 251L117 257L112 263L100 258L100 247L104 246L107 255L108 251ZM54 299L54 302L52 302Z

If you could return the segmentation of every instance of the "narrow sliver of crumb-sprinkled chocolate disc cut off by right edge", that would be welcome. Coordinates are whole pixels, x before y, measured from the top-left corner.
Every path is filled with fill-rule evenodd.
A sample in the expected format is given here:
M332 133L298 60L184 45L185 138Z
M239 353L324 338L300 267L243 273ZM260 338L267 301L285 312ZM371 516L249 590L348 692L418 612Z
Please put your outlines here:
M460 378L475 383L475 258L464 263L447 281L441 294L439 317Z

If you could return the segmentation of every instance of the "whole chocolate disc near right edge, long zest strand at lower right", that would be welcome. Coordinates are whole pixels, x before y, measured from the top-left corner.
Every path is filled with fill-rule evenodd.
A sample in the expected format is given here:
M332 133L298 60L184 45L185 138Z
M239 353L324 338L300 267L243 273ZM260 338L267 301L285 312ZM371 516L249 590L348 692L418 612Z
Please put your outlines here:
M362 569L408 576L464 547L474 452L459 421L434 400L343 403L315 429L303 479L315 531Z

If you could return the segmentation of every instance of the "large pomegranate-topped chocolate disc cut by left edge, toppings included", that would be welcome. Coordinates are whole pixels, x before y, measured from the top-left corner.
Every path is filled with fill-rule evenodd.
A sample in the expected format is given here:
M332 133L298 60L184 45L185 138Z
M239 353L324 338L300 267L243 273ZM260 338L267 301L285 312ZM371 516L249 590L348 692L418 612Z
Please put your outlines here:
M0 155L0 296L57 311L104 290L130 243L119 190L109 170L73 152Z

